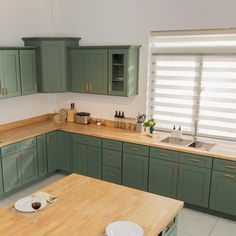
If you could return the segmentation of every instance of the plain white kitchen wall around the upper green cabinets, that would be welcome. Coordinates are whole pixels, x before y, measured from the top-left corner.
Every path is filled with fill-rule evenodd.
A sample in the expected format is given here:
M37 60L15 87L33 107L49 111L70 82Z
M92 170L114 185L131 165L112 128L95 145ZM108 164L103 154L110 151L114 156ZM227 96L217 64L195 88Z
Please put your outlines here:
M81 45L141 44L139 95L31 95L0 100L0 124L68 107L112 118L145 111L148 37L151 30L236 27L235 0L21 0L1 1L0 45L23 36L81 36Z

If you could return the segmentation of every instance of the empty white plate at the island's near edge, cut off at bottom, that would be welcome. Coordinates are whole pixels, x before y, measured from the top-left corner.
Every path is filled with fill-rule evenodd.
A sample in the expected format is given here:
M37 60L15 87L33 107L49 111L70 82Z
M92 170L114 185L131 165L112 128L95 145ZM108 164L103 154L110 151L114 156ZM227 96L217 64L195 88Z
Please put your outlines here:
M108 236L143 236L143 229L130 221L116 221L106 227Z

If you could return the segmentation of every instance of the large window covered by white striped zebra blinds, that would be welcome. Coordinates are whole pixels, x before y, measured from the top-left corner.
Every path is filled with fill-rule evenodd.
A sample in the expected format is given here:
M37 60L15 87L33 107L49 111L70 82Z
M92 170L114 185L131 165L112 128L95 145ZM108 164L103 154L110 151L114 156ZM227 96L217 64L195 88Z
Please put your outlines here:
M153 32L148 114L160 129L236 139L236 32ZM197 33L197 34L196 34Z

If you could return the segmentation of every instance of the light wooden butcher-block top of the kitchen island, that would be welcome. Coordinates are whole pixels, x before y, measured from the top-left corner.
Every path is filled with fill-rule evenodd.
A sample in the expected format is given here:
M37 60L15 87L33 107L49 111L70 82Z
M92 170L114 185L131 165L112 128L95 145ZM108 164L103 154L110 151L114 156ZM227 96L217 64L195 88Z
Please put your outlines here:
M42 211L0 210L0 235L102 236L117 220L136 222L145 236L156 236L183 208L183 202L72 174L42 191L58 200Z

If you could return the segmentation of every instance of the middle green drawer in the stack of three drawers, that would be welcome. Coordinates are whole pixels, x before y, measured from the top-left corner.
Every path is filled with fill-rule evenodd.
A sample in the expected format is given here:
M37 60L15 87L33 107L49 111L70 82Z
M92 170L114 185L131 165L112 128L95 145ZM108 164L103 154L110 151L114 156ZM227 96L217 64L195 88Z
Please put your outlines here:
M121 168L122 153L103 149L102 161L103 165Z

